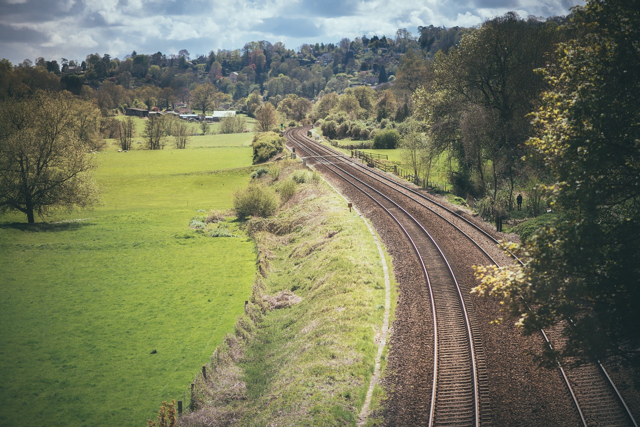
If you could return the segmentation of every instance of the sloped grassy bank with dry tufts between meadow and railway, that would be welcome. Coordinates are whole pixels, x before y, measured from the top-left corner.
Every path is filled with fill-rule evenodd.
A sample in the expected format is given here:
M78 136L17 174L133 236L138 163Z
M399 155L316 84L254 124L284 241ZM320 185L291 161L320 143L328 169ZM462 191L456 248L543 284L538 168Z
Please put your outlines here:
M246 222L259 254L252 297L194 381L182 426L358 419L383 323L380 255L362 219L298 165L260 178L277 188L294 176L296 192L275 216Z

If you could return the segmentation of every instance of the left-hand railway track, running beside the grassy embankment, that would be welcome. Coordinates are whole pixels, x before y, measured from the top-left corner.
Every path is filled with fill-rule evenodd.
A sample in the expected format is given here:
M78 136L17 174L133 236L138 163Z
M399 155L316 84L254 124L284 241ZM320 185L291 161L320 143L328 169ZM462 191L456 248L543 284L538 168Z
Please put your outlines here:
M291 136L291 132L288 134ZM295 138L295 136L294 136ZM312 156L317 152L299 147ZM352 173L328 161L320 162L340 179L360 189L403 230L422 266L434 325L434 373L429 426L479 426L476 337L462 287L435 240L410 213ZM367 188L369 191L364 191ZM476 334L477 335L477 334Z

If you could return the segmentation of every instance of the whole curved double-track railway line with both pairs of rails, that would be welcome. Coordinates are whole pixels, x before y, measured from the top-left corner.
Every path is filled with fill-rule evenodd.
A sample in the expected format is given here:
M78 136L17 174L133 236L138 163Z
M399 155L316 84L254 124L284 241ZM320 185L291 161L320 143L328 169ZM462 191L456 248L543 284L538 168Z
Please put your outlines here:
M397 177L381 173L307 137L309 127L289 129L285 136L298 156L366 195L393 218L419 260L422 290L433 323L433 373L429 426L484 426L491 423L488 375L480 334L466 289L456 266L438 245L456 230L459 245L471 245L484 262L513 262L480 224L452 211ZM438 218L440 230L427 230L426 218ZM446 225L445 225L446 224ZM447 229L445 232L444 229ZM466 243L464 243L466 242ZM519 260L518 260L519 261ZM548 345L562 345L558 334L541 335ZM549 336L553 335L553 338ZM558 365L559 366L559 365ZM568 394L583 426L636 426L629 408L600 362L568 369L559 366Z

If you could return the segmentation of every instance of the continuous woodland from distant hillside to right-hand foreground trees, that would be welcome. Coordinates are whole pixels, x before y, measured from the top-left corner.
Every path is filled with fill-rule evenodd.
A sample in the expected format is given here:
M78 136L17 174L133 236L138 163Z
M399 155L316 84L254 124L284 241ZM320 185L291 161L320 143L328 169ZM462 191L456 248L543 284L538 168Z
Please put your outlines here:
M193 57L2 60L0 99L72 93L95 111L84 133L90 149L118 137L115 116L127 107L191 108L235 109L261 131L315 124L330 140L398 148L417 177L446 156L452 191L478 211L543 218L511 245L530 261L478 268L477 291L514 312L518 296L528 298L536 307L520 319L528 332L581 319L566 332L575 346L565 353L583 355L638 340L639 73L639 12L590 0L567 17L510 12L476 28L421 26L296 50L261 40Z

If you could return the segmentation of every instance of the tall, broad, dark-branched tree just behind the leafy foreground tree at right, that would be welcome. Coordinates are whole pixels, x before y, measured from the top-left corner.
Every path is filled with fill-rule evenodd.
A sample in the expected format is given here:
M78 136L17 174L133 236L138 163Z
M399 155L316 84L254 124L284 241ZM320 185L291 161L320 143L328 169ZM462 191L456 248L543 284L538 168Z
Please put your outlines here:
M449 141L463 169L468 171L472 167L464 164L470 158L465 155L465 147L474 141L491 141L475 151L482 152L484 163L491 165L493 198L505 181L509 199L513 200L515 181L525 166L522 162L525 141L534 133L527 114L540 102L540 93L545 87L534 69L545 65L556 40L554 26L534 18L520 19L513 12L506 13L465 34L456 49L438 52L433 61L433 82L424 85L429 90L417 90L420 97L431 93L430 99L417 99L421 106L449 110L446 116L426 115L440 123L438 127L432 127L432 132L443 133L434 135L433 139ZM465 118L468 123L475 121L476 125L467 127L474 133L461 133ZM477 125L486 127L477 129ZM451 140L454 134L456 141ZM476 138L477 135L486 138ZM472 183L468 181L461 179L460 185L456 186L460 191L469 191ZM477 189L481 195L484 191L484 188Z

